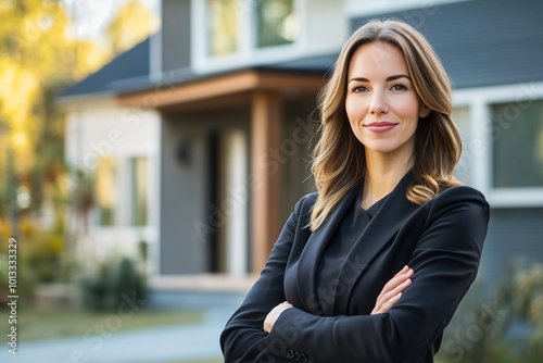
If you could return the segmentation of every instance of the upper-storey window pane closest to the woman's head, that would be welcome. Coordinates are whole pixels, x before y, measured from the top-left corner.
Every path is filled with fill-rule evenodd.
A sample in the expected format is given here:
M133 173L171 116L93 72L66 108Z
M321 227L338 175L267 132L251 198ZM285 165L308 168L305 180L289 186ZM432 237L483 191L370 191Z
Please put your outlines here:
M293 42L298 29L293 0L255 1L257 1L257 46L270 47Z

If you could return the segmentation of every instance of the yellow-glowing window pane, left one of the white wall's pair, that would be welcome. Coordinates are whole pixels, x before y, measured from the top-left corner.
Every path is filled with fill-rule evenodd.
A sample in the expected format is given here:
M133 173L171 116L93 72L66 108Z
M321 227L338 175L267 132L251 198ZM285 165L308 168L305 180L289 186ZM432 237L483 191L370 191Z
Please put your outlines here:
M99 159L94 195L98 210L98 224L112 226L115 224L115 205L117 202L117 161L113 158Z

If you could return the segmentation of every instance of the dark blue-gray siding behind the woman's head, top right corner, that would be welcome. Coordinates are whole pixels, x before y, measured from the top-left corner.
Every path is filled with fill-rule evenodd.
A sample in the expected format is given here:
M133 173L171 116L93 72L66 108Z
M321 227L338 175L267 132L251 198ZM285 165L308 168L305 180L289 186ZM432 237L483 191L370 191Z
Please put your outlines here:
M386 15L420 30L454 87L467 88L543 80L541 14L540 0L473 0ZM352 20L351 29L367 20Z

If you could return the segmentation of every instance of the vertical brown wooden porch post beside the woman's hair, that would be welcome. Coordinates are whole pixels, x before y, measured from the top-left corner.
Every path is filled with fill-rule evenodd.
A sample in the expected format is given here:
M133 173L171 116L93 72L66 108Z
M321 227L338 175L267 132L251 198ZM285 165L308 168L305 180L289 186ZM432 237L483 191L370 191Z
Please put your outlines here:
M256 91L251 120L251 247L252 272L258 273L281 229L281 164L273 158L282 135L281 97Z

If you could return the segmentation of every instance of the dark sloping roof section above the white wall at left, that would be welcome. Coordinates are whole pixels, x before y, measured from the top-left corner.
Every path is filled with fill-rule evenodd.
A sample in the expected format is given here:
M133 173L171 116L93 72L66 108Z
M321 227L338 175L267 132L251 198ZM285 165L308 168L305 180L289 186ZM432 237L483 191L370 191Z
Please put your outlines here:
M149 38L119 54L100 71L66 88L60 97L112 91L115 82L128 78L149 78Z

